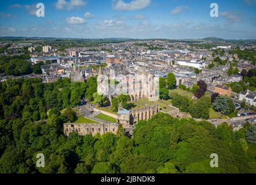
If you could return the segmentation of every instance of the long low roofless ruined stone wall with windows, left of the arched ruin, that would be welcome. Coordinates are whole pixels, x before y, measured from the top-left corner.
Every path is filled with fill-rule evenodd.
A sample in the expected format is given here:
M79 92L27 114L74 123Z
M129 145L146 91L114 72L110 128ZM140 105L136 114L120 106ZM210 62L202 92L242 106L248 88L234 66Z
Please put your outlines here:
M78 132L79 135L99 133L100 135L112 132L116 134L118 124L116 123L64 123L64 134L69 136L71 132Z

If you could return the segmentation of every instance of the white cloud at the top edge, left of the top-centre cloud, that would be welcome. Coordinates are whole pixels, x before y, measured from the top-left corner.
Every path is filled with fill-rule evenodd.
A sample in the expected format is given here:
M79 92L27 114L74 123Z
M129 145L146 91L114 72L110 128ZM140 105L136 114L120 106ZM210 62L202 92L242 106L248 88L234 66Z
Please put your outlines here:
M83 0L58 0L54 5L58 10L72 10L77 7L86 6L86 2Z

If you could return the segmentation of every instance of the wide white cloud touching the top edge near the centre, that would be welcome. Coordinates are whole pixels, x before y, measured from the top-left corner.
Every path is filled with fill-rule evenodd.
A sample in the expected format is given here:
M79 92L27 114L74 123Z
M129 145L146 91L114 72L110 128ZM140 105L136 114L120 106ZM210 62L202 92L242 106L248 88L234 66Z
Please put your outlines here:
M123 0L112 0L112 9L116 11L140 10L147 8L150 2L151 0L132 0L129 3L126 3Z

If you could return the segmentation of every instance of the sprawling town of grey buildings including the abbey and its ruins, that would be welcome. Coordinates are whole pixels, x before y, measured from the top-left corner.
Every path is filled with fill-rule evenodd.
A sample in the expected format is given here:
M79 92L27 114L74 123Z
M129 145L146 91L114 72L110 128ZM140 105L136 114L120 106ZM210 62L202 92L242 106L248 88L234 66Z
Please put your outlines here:
M247 122L255 124L255 78L250 79L248 88L244 88L246 85L243 84L249 72L255 75L255 61L239 58L239 52L255 49L256 45L220 42L218 46L210 40L214 38L206 38L200 42L119 40L118 43L97 43L94 44L97 46L71 47L64 50L56 43L54 46L46 45L47 41L45 44L2 43L3 46L9 46L2 54L11 53L11 56L20 56L28 53L30 55L28 61L33 70L22 76L17 76L15 73L8 75L8 72L5 74L5 71L2 71L1 81L8 78L35 77L42 79L43 83L56 82L60 78L69 78L71 82L86 82L90 77L97 77L97 92L105 95L107 103L98 106L92 99L90 101L83 97L78 105L78 114L86 118L85 123L65 123L65 135L73 131L81 135L116 133L120 123L125 128L126 134L131 136L137 121L148 120L158 112L169 113L179 118L203 118L215 125L227 122L232 124L234 130L242 128ZM143 79L146 73L151 84L138 80ZM160 82L162 79L167 79L170 73L174 76L174 84L170 90L166 86L155 87L155 84L159 85L159 79ZM120 77L121 75L124 77ZM103 87L103 80L99 82L100 78L107 83L113 82L112 88L119 88L120 92L115 91L112 94L105 92L107 86ZM130 92L126 99L132 106L126 105L125 109L120 105L113 111L111 109L115 103L113 99L115 101L118 95L127 94L125 89L127 78L130 81L132 78L136 80L138 86L137 90ZM232 116L213 110L212 107L209 116L191 116L188 111L184 112L172 105L171 97L176 93L185 94L196 102L196 99L202 95L196 97L193 95L193 90L196 94L197 83L200 81L207 85L206 96L210 97L218 93L232 99L235 105ZM142 87L142 84L147 84L147 87ZM149 88L152 88L151 92L156 101L149 101L152 99L152 94L144 92ZM88 123L90 121L87 119L92 120L92 123L101 123L101 126Z

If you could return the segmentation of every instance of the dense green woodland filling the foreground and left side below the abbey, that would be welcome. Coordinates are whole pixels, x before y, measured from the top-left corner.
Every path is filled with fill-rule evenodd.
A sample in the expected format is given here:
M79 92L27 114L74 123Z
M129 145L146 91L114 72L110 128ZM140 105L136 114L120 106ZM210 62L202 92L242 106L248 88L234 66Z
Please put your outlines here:
M171 79L171 78L170 78ZM168 81L167 81L168 82ZM233 132L227 124L175 119L158 113L139 121L133 138L118 134L63 135L61 114L81 98L94 100L96 77L86 83L59 79L8 79L0 83L1 173L256 173L256 127ZM202 97L203 98L203 97ZM36 167L36 154L45 168ZM217 153L219 167L210 167Z

